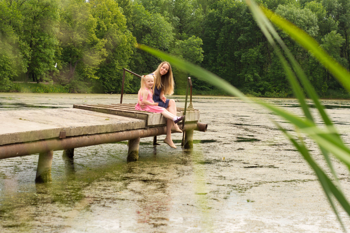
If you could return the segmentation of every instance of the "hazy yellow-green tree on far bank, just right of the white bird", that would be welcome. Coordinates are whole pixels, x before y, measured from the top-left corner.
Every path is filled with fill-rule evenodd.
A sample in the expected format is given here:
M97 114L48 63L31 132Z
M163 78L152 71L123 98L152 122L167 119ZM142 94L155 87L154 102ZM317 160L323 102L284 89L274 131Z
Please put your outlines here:
M59 39L62 47L63 79L72 88L87 92L107 55L105 39L96 36L97 20L90 5L80 0L64 1L61 8Z

